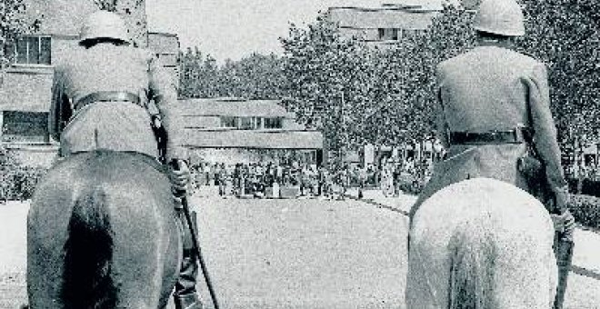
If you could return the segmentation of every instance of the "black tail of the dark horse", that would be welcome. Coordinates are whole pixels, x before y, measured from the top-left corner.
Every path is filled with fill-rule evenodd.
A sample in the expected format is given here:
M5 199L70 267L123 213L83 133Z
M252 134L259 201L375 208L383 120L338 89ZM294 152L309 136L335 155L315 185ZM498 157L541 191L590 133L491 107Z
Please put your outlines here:
M65 243L62 298L65 308L115 308L117 291L110 276L113 233L105 189L86 188L75 199Z

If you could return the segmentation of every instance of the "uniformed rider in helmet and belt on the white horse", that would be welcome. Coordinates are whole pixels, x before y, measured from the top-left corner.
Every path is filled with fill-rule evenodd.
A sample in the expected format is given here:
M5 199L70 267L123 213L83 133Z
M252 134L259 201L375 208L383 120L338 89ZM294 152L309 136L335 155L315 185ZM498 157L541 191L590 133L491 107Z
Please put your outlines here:
M521 7L514 0L485 0L475 16L477 46L439 64L438 138L445 160L411 209L412 219L426 198L446 185L468 178L490 177L534 193L542 181L560 239L555 244L559 286L555 308L561 308L566 274L573 253L573 216L566 210L568 192L560 164L545 65L511 48L525 35ZM519 164L535 152L545 166L544 179L531 179ZM537 195L537 194L536 194Z

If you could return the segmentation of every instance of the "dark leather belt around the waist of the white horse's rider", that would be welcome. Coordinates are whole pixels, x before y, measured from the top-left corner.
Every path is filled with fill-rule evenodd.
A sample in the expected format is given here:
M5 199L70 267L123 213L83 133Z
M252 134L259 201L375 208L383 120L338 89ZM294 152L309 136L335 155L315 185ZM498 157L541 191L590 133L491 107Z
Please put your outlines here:
M525 128L515 128L508 131L488 132L449 132L450 145L498 145L525 143Z

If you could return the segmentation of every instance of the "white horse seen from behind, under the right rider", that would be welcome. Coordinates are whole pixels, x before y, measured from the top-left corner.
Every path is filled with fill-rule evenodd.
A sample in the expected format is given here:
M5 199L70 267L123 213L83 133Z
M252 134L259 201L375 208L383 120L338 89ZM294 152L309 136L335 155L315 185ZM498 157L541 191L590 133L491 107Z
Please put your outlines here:
M407 308L551 308L554 234L544 205L511 184L475 178L445 187L413 220Z

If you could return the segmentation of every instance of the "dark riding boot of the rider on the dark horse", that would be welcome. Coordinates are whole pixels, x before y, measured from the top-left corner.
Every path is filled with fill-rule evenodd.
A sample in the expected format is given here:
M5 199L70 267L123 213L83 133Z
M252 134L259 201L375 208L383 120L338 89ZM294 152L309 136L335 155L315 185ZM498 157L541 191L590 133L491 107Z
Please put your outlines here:
M190 216L195 225L195 212L192 212ZM202 302L195 290L196 277L198 275L198 259L195 254L194 240L192 239L189 225L185 220L185 215L182 214L180 217L183 220L182 226L184 227L184 254L179 270L179 279L175 284L175 293L173 294L175 309L202 309ZM196 231L195 228L194 230Z

